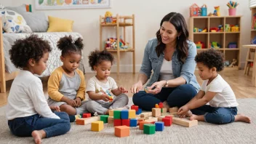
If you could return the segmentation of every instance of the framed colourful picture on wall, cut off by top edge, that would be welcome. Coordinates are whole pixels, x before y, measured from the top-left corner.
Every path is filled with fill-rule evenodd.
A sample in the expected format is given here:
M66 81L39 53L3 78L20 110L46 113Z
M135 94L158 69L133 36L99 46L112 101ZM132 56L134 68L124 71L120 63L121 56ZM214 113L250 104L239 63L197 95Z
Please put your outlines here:
M36 0L36 9L111 8L111 0Z

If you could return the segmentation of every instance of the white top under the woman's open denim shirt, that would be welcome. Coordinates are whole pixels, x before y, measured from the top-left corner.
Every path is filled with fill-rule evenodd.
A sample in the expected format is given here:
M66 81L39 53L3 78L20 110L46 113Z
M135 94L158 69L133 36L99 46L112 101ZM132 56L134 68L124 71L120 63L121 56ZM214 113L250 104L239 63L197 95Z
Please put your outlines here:
M159 81L170 79L175 79L172 73L172 60L167 61L164 59L160 69Z

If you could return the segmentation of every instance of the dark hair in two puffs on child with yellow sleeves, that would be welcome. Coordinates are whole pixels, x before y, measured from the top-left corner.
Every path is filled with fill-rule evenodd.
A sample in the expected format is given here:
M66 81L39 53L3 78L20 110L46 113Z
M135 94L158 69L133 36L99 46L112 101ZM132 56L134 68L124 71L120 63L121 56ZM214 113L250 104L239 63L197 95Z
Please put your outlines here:
M78 38L73 41L72 36L64 36L57 41L57 48L61 50L61 55L69 55L71 52L81 55L81 49L84 48L83 39Z

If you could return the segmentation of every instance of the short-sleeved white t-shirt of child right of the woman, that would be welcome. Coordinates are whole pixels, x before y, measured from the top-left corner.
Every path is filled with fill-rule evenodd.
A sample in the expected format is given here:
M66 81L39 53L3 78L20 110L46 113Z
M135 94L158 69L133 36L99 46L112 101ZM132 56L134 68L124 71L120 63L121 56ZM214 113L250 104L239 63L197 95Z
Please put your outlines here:
M215 79L212 80L211 83L208 84L209 79L204 80L201 86L201 90L206 92L216 92L217 94L212 100L209 101L209 105L212 107L223 107L223 108L231 108L238 106L236 102L236 96L233 93L230 85L220 76L217 75Z

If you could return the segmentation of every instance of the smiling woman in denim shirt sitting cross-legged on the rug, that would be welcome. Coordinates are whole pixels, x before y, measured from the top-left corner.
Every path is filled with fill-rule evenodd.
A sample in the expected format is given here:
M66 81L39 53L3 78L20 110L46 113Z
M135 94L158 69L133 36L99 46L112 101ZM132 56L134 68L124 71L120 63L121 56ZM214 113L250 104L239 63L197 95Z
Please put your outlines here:
M145 47L138 81L131 88L135 94L133 103L145 111L151 111L161 102L167 111L171 107L188 103L199 91L199 84L193 74L196 68L195 56L196 44L188 40L188 28L183 15L171 12L164 16L156 38L149 40ZM147 81L148 93L140 91Z

